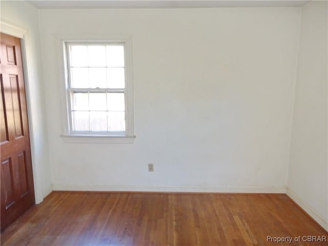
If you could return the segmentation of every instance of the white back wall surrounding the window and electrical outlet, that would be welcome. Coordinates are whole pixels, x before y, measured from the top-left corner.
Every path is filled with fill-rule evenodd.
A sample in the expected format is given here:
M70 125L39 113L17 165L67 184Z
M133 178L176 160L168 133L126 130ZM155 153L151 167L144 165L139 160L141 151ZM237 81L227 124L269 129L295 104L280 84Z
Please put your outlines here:
M39 20L55 190L285 192L300 8L40 10ZM60 137L60 33L132 35L134 144Z

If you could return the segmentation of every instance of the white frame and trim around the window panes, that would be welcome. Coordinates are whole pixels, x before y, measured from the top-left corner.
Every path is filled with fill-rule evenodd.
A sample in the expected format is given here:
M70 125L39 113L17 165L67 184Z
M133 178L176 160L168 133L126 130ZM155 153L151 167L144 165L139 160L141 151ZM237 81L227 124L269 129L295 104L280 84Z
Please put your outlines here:
M125 50L125 120L126 129L120 132L74 132L72 131L72 114L71 114L71 97L69 95L69 72L68 72L68 56L66 44L79 44L79 45L92 45L92 44L120 44L124 45ZM61 54L61 67L63 68L62 74L65 78L65 111L66 119L64 126L64 134L61 135L65 142L113 142L113 143L133 143L134 142L134 107L133 107L133 81L132 81L132 42L129 36L110 37L106 39L81 39L81 38L60 38ZM64 66L63 66L64 65ZM91 89L86 88L86 91L97 91L107 89ZM108 91L114 91L115 89L108 89ZM122 91L122 89L118 89Z

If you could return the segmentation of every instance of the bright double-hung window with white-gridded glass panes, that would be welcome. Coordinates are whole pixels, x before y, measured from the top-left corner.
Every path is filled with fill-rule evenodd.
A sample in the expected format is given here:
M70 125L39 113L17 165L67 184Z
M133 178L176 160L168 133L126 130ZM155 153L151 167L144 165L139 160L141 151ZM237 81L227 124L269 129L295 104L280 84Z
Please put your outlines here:
M125 42L65 42L69 135L132 136Z

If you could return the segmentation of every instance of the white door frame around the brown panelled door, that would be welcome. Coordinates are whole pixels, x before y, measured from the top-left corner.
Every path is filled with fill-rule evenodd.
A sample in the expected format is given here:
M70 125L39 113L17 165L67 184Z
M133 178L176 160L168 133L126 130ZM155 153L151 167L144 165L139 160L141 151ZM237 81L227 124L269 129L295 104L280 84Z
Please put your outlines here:
M22 61L23 61L23 75L25 84L25 94L26 94L26 106L27 106L27 116L29 124L30 133L30 145L31 145L31 157L32 157L32 169L33 169L33 181L34 181L34 195L35 203L38 204L43 201L42 195L42 185L41 185L41 167L40 163L36 159L36 139L37 139L37 129L36 122L33 116L33 109L36 107L33 100L33 83L32 81L37 81L32 70L32 63L30 57L30 42L28 30L11 25L3 20L0 20L1 32L20 38L20 47L22 49Z

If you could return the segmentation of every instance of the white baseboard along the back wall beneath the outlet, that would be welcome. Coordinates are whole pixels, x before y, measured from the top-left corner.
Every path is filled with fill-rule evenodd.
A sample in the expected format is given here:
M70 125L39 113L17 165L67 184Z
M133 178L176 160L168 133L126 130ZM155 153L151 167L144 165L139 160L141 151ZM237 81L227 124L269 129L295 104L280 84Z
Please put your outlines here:
M207 186L85 186L53 184L54 191L131 191L199 193L286 193L285 187L207 187Z

